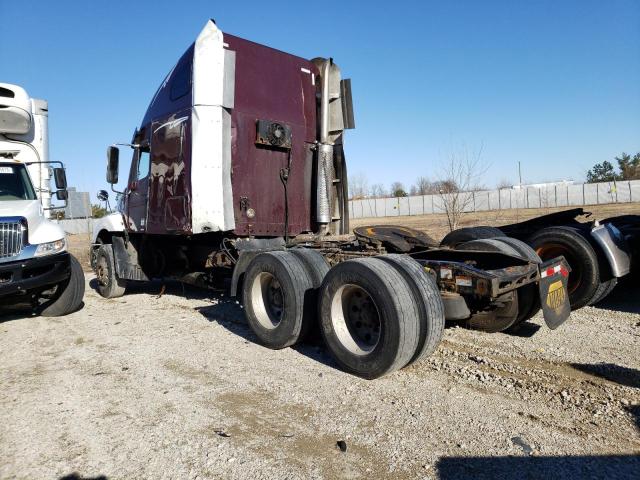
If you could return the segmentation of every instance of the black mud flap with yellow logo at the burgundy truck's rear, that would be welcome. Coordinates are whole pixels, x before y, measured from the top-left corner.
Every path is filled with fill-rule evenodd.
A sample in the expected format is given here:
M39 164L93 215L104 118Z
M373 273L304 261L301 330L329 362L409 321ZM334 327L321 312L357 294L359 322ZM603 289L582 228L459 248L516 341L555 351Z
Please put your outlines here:
M562 325L571 313L567 290L570 271L564 257L556 257L540 265L540 305L544 321L551 330Z

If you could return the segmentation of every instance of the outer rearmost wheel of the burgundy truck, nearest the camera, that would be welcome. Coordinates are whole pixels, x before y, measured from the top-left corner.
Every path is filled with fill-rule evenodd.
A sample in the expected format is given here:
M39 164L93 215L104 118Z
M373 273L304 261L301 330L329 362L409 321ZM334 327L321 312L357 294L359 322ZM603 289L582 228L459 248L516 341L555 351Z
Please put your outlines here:
M347 371L373 379L411 361L418 346L418 309L405 279L378 258L333 267L320 291L320 328Z

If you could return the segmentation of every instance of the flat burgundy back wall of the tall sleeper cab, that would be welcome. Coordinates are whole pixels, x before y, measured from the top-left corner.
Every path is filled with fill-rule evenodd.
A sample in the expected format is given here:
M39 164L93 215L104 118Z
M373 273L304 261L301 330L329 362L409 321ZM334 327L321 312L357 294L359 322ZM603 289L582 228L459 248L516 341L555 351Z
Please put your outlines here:
M236 52L235 104L232 110L232 190L235 233L278 236L284 233L285 196L280 169L287 151L258 146L256 121L290 126L291 172L288 180L289 233L310 231L312 157L316 134L316 87L308 60L225 34ZM305 69L303 71L301 69ZM245 205L255 210L248 218Z

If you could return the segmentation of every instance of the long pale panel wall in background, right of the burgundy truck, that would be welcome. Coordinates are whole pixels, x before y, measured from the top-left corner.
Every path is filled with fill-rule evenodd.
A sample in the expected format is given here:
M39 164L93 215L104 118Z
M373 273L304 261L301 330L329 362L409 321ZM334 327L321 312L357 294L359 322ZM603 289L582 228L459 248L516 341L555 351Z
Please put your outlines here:
M465 212L640 202L640 180L465 192L458 201ZM440 195L415 195L350 200L349 211L351 218L370 218L444 213L445 209Z

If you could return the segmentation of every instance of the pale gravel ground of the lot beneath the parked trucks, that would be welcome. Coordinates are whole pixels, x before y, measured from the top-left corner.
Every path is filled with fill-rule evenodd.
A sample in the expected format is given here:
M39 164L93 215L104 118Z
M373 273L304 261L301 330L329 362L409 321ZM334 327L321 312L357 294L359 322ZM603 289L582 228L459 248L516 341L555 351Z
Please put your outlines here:
M5 315L1 478L638 478L632 286L556 331L447 328L374 381L320 344L257 345L223 294L160 287Z

